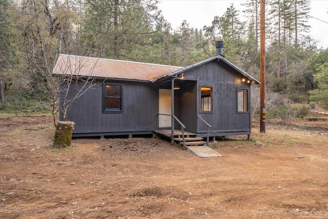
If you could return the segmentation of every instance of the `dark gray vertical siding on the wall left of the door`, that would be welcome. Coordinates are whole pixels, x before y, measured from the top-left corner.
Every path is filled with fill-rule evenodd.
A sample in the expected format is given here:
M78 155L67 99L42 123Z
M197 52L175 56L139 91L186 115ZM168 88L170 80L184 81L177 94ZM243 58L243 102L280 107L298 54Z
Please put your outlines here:
M104 85L99 84L73 103L68 116L69 121L76 123L73 136L151 133L157 128L156 84L125 81L106 83L122 85L122 111L103 111Z

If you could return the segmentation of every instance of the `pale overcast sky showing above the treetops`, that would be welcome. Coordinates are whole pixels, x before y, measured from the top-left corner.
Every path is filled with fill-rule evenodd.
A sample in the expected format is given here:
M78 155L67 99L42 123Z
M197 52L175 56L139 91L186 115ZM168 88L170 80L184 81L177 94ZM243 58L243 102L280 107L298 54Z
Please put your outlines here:
M179 27L183 20L189 23L189 27L201 29L210 26L215 16L222 16L233 3L242 15L241 3L243 0L160 0L158 4L163 16L172 28ZM310 35L316 41L318 48L328 48L328 0L311 0L309 19L311 26ZM317 19L316 19L317 18ZM319 21L322 20L322 21Z

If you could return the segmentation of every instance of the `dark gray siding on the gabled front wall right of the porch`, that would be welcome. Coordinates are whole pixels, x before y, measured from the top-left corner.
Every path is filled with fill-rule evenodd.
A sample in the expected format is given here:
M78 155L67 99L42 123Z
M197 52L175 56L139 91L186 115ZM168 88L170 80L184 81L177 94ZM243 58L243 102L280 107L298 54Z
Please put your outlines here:
M190 109L189 120L191 123L194 118L199 115L203 120L212 125L212 135L226 135L222 132L250 132L250 112L240 113L237 112L237 92L239 89L247 89L249 92L250 101L250 85L241 82L242 76L235 72L232 68L224 63L218 63L218 61L209 62L202 66L196 67L184 73L186 80L197 81L197 100L195 98L187 97L191 101L190 106L186 109ZM200 110L200 87L212 87L213 94L213 111L201 112ZM183 98L181 98L183 99ZM181 102L182 103L182 102ZM191 105L195 103L195 109ZM181 106L180 106L181 108ZM250 106L249 106L250 111ZM192 114L194 116L192 116ZM185 120L183 120L185 121ZM194 124L190 124L194 127ZM206 132L207 126L197 119L197 133ZM229 135L229 134L227 134Z

